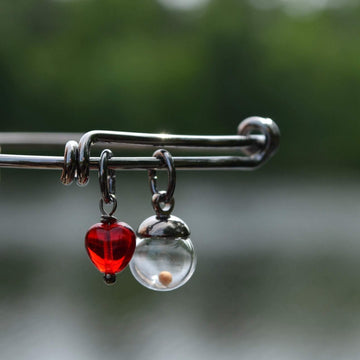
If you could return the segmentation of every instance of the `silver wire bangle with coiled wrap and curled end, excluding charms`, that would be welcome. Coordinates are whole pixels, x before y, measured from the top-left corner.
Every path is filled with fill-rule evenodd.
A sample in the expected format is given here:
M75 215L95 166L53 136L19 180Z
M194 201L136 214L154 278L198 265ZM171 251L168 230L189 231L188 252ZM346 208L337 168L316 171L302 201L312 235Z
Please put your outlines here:
M260 132L261 134L251 134L253 131ZM61 134L61 136L63 135ZM52 140L54 140L53 136L43 137L42 144L51 147ZM69 137L71 138L71 136ZM5 138L10 140L6 143ZM15 139L17 139L15 134L0 134L0 145L15 142ZM234 148L241 150L245 156L179 156L173 157L174 165L178 170L251 170L261 166L275 153L279 145L279 139L280 131L275 122L271 119L260 117L245 119L238 127L238 135L231 136L187 136L90 131L81 137L79 145L76 141L68 142L64 156L0 154L0 167L63 170L61 181L64 184L70 184L77 175L78 184L86 185L89 171L99 168L99 157L90 156L91 147L103 143L111 143L111 147L115 148L119 146L123 148L164 146L168 149L182 148L194 151L202 148ZM39 139L30 138L30 140L36 142ZM30 144L30 140L27 142L26 139L23 139L22 143ZM65 139L61 137L61 140ZM163 169L164 167L164 163L154 157L113 157L108 160L108 168L114 170L149 170Z

